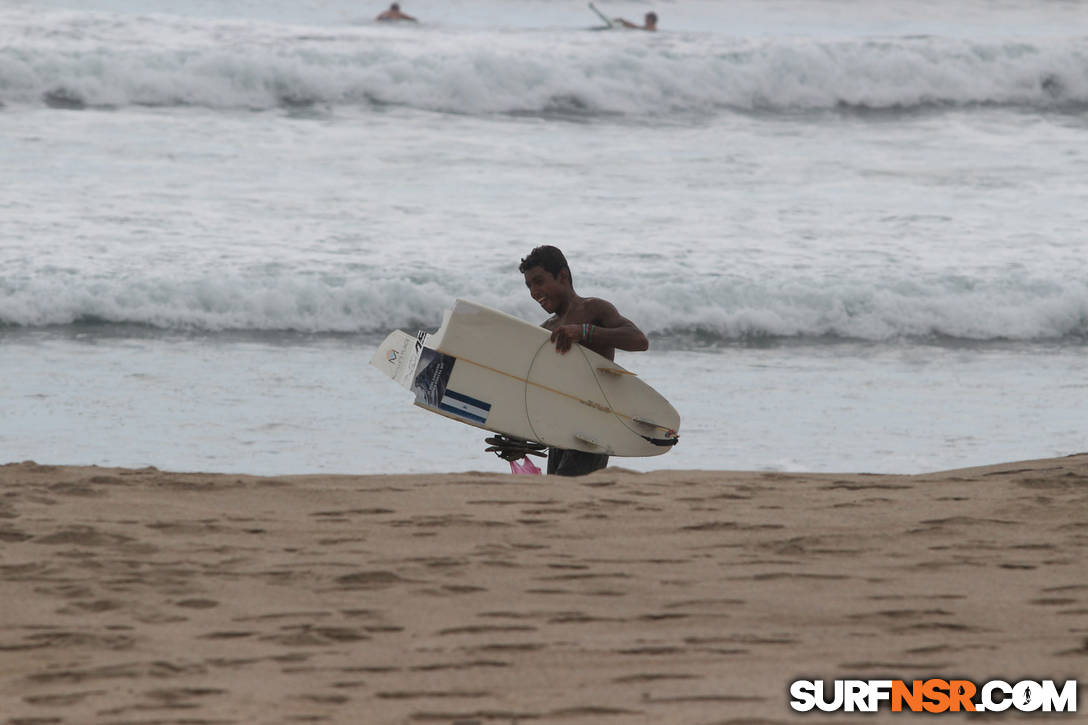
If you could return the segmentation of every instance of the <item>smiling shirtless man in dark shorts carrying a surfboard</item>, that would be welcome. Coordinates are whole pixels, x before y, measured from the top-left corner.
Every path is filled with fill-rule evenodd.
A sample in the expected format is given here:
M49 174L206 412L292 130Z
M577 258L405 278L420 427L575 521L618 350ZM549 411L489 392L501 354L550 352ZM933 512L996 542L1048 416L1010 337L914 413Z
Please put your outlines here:
M570 267L556 247L536 247L521 260L518 271L526 277L529 294L545 312L551 312L552 317L541 327L552 331L552 342L560 354L581 343L614 360L617 349L638 352L650 347L642 330L620 315L615 305L574 292ZM607 455L548 448L548 474L583 476L607 465Z

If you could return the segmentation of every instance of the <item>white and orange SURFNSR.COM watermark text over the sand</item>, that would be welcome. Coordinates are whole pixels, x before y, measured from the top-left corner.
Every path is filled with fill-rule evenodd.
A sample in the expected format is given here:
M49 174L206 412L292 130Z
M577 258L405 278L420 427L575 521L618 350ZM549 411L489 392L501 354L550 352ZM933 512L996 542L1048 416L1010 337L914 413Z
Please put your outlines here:
M1076 712L1077 680L799 679L790 698L798 712Z

